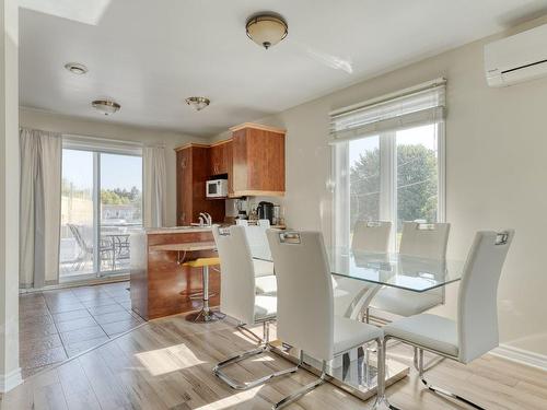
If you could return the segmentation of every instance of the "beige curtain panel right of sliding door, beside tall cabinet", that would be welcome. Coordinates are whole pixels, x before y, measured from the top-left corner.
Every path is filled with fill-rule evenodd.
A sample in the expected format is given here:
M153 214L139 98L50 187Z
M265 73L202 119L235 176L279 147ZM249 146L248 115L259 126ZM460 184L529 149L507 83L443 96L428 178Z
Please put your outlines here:
M165 149L144 147L142 165L144 227L161 227L165 225L167 214Z

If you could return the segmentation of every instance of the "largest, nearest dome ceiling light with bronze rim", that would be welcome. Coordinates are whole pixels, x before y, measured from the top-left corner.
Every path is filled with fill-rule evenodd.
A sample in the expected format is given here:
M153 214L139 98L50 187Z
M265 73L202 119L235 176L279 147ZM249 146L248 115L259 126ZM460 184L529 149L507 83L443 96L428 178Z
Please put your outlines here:
M245 25L247 37L266 49L281 42L289 34L284 19L272 12L253 14Z

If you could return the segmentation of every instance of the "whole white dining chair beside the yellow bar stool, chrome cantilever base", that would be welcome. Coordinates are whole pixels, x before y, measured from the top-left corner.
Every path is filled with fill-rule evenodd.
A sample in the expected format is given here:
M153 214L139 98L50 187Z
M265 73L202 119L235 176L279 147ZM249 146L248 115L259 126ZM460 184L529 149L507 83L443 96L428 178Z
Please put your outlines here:
M230 226L222 232L219 226L213 226L212 234L220 257L220 311L237 320L237 328L241 330L249 332L246 326L257 324L263 324L264 330L264 337L258 348L218 363L213 373L230 387L246 390L270 378L295 372L296 367L290 367L251 382L238 382L224 373L224 367L265 353L270 349L269 325L276 320L277 297L256 294L253 258L243 226ZM255 336L253 332L252 335Z

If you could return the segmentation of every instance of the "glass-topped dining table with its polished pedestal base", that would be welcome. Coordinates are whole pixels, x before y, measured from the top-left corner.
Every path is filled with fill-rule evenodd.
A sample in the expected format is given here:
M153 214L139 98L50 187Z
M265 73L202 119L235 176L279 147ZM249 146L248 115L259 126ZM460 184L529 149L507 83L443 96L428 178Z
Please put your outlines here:
M272 262L266 245L251 244L253 258ZM342 247L326 248L333 276L335 314L363 320L363 313L382 289L398 289L398 297L431 297L439 294L444 301L444 286L462 279L465 262L437 260L400 254L379 254ZM348 297L349 296L349 297ZM345 300L345 303L337 303ZM341 307L340 307L341 305ZM279 342L276 353L295 362L298 352ZM376 386L375 360L368 349L358 349L337 358L328 366L329 382L363 400L374 395ZM321 362L306 358L310 372L318 374ZM404 378L409 367L394 360L386 365L386 386Z

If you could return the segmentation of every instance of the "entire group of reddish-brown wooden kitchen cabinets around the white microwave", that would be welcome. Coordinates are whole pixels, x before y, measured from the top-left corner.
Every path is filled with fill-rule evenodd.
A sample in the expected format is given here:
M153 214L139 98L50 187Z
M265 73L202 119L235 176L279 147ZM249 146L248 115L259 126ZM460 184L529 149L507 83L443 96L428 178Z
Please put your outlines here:
M200 212L224 221L224 200L206 198L206 180L221 175L230 198L284 195L284 130L246 122L231 131L225 141L175 149L177 225L198 222Z

